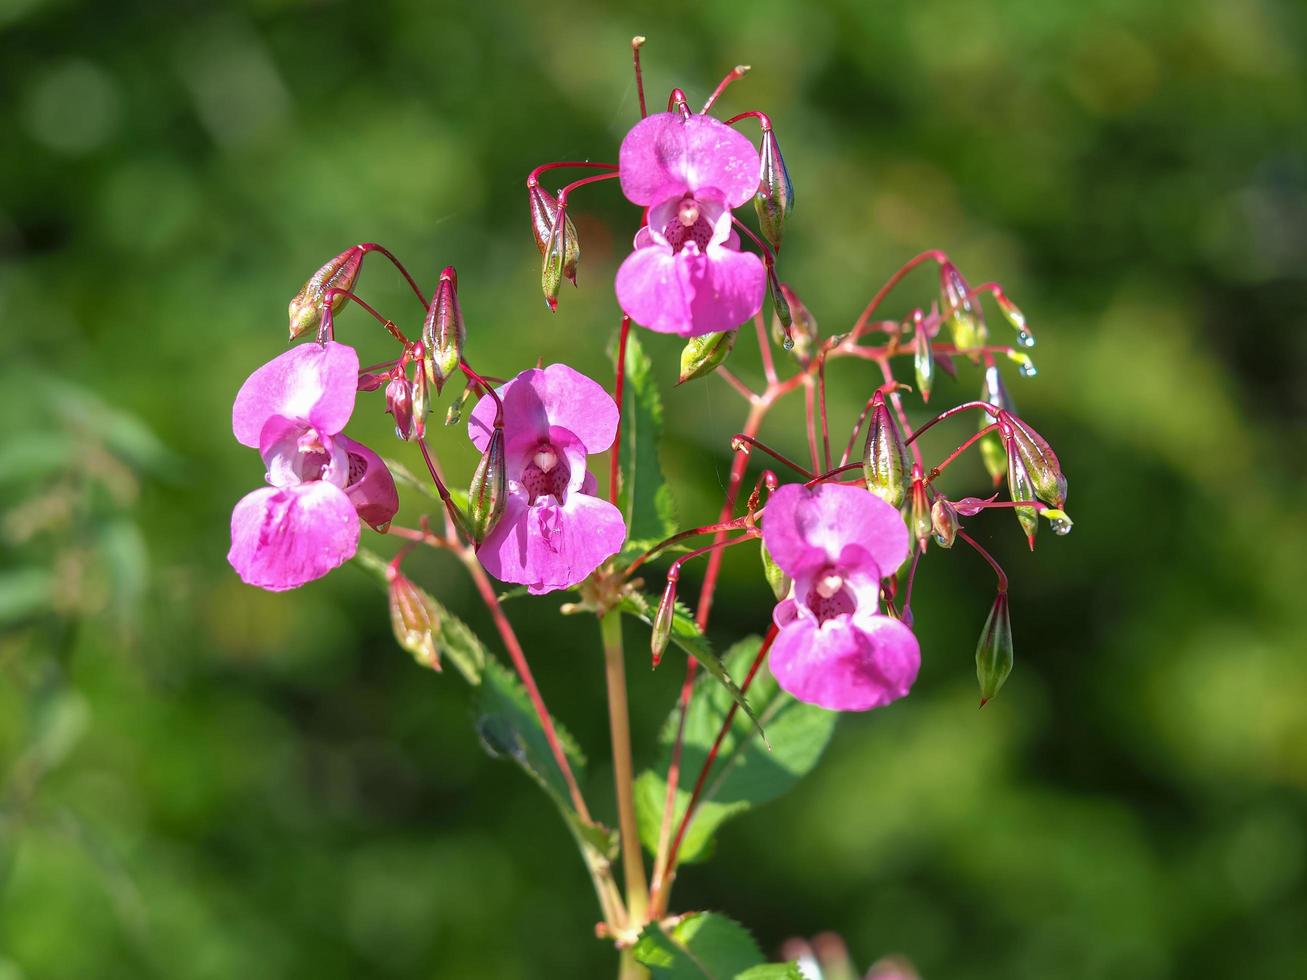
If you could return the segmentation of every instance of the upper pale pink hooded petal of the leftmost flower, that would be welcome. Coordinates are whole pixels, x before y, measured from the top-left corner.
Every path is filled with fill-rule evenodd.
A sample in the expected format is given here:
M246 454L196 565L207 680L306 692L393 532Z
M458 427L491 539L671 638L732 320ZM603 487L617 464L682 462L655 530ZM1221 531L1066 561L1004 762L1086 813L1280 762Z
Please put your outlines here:
M336 341L301 344L274 357L246 379L231 406L231 431L242 446L259 448L259 434L273 416L308 422L336 435L354 414L358 354Z

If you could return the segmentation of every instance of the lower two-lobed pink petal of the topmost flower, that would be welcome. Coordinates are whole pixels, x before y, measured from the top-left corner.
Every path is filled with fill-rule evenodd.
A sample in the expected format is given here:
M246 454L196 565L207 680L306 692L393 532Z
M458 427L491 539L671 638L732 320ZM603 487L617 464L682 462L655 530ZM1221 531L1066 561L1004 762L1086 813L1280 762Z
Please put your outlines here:
M617 270L617 302L635 323L659 333L698 337L731 331L762 308L766 270L753 252L650 246Z

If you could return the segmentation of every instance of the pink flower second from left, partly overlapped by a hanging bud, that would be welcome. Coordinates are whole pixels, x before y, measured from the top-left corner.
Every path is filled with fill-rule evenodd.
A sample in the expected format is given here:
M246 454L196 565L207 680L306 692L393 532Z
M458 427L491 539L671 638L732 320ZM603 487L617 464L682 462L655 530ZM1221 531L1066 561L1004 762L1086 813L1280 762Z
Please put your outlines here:
M477 555L497 579L533 595L570 588L626 540L621 511L595 497L595 477L586 469L586 456L603 452L617 435L617 405L566 365L523 371L498 393L508 500ZM481 399L468 421L482 452L494 414L494 400Z

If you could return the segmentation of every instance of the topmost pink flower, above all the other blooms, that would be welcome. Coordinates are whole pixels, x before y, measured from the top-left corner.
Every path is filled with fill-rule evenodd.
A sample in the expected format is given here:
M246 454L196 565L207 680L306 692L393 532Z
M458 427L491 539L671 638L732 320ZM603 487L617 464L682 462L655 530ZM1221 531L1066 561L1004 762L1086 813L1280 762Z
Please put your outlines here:
M622 192L648 208L617 270L617 302L635 323L697 337L762 308L762 260L740 251L731 209L758 189L758 150L712 116L659 112L622 140Z

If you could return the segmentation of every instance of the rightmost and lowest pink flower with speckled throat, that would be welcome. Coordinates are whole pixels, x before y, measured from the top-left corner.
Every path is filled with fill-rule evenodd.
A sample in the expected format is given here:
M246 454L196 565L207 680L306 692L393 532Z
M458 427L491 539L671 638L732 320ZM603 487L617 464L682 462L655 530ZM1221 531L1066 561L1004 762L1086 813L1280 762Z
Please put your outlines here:
M880 614L881 579L908 551L899 512L861 487L789 483L767 502L762 540L795 580L772 613L778 683L833 711L878 708L907 694L921 664L916 636Z

